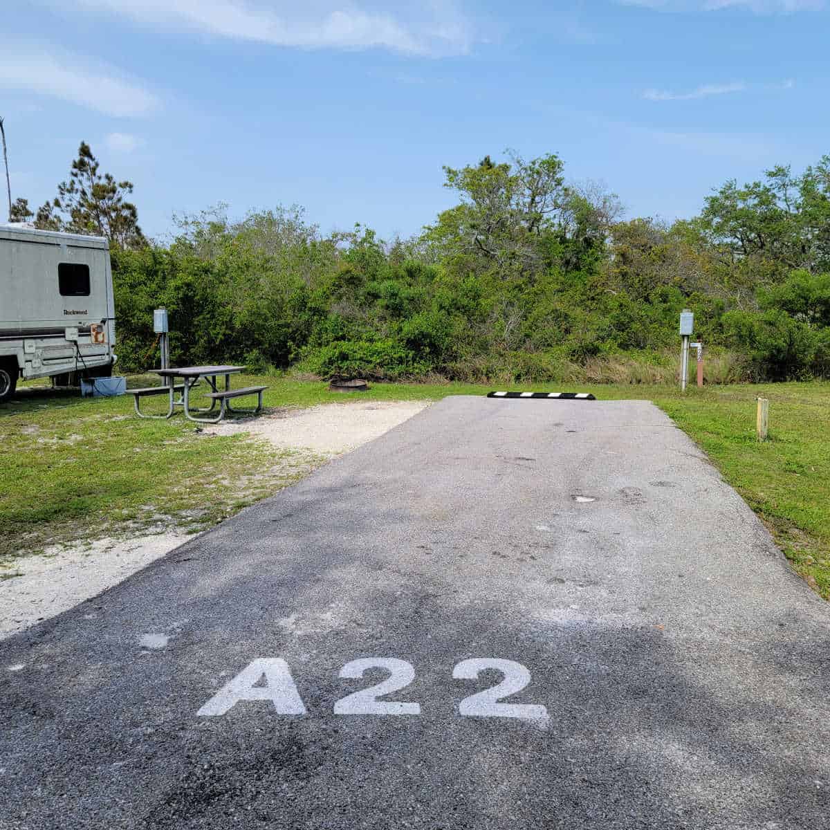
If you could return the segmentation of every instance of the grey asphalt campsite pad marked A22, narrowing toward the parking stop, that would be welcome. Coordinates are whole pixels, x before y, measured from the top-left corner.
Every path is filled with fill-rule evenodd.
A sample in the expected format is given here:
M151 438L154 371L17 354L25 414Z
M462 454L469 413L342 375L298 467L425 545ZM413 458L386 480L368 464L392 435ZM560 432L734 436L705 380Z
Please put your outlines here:
M652 405L447 398L0 643L0 828L828 828L828 623Z

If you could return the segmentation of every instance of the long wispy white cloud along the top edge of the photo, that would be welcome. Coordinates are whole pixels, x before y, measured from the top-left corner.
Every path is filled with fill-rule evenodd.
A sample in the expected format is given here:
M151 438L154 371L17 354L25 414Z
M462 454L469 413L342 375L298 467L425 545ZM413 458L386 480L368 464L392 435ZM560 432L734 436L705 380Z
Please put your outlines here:
M54 0L52 0L54 2ZM129 17L168 31L203 32L214 37L259 41L305 49L383 48L412 55L462 54L472 41L470 26L449 0L392 4L364 11L331 0L63 0L61 7L85 7ZM400 12L408 19L403 20ZM414 15L414 17L413 17Z

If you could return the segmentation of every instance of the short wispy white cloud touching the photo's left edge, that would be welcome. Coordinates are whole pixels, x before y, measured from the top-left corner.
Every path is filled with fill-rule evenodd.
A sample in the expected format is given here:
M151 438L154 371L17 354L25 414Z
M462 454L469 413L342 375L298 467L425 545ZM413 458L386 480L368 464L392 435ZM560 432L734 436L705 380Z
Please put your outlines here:
M0 88L47 95L106 115L149 115L159 99L112 66L46 43L0 40Z

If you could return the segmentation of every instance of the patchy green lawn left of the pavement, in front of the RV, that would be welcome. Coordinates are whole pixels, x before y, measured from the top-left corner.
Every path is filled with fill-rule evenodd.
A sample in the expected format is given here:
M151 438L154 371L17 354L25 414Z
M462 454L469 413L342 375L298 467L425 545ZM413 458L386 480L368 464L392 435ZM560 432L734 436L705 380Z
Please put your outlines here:
M132 402L32 384L0 404L0 562L68 540L203 530L322 462L199 434L181 415L141 420Z

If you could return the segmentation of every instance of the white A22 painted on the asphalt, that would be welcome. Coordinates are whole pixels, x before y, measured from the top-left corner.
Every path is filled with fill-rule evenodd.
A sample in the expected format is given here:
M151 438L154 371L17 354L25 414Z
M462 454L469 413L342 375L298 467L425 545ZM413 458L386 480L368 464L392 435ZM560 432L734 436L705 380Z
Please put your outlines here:
M334 704L335 715L420 715L421 704L414 701L381 701L409 686L415 679L411 663L397 657L362 657L346 663L339 677L361 679L366 671L383 669L388 677L341 697ZM473 657L462 660L452 670L456 680L477 680L482 671L495 669L502 675L501 681L489 689L477 691L458 704L458 714L464 717L519 718L544 720L548 710L530 703L502 703L505 697L515 695L530 683L530 671L521 663L501 660L498 657ZM264 681L264 682L263 682ZM250 662L231 681L217 691L196 713L208 717L225 715L242 701L271 701L278 715L305 715L305 704L297 691L288 663L281 657L260 658Z

